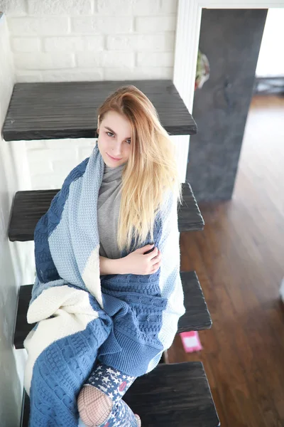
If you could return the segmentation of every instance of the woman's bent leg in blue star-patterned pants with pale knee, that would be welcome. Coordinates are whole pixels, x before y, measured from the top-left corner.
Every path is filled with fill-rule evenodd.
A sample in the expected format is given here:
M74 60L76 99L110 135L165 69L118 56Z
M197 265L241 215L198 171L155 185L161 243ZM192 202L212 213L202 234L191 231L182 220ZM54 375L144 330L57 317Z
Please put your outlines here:
M77 399L80 418L88 427L139 427L140 418L121 400L136 378L97 364Z

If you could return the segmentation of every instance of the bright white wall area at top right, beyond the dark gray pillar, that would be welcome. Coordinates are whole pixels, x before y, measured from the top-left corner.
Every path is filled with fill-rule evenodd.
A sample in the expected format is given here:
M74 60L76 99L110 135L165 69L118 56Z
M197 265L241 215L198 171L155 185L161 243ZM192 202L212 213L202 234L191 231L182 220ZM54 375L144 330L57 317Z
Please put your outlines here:
M284 9L268 9L256 77L284 77Z

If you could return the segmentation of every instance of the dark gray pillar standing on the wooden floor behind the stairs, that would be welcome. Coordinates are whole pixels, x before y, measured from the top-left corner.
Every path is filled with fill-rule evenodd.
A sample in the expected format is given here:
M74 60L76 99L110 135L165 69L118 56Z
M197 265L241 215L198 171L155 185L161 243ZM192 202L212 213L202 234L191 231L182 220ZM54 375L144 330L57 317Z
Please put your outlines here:
M231 199L267 9L203 9L210 77L195 91L187 181L197 201Z

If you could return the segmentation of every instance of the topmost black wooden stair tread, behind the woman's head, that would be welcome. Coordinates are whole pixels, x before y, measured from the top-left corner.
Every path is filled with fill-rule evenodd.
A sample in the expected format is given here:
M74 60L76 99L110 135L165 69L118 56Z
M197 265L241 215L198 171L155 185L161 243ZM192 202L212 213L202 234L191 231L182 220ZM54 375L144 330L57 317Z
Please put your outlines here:
M16 83L2 129L6 141L92 138L97 108L122 85L153 102L170 135L194 135L197 125L172 80ZM36 120L35 120L36 119Z

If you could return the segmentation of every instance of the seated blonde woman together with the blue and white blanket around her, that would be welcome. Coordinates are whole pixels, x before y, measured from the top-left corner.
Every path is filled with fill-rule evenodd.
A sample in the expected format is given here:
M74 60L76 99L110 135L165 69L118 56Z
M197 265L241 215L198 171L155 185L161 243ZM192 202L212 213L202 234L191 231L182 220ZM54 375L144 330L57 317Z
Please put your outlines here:
M141 426L121 398L157 366L185 313L175 146L133 85L99 107L97 134L35 228L28 322L39 323L24 342L31 427L77 426L77 410L80 426Z

